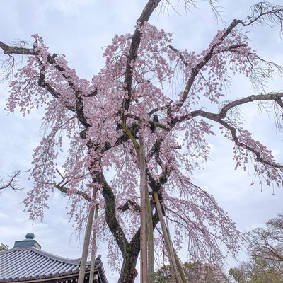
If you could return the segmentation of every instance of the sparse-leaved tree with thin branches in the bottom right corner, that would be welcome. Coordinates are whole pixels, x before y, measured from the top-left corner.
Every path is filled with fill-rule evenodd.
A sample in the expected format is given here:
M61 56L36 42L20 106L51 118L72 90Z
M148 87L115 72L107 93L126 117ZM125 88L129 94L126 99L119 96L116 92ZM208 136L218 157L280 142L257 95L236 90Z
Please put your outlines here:
M283 214L244 235L250 260L229 271L237 283L283 282Z

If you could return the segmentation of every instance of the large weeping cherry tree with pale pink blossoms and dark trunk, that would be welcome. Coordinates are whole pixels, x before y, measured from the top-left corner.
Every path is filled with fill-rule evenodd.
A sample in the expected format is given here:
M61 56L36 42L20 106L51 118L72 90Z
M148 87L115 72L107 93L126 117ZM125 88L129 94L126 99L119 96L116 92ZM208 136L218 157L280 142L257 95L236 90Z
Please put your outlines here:
M282 165L233 115L241 105L270 102L280 122L283 94L267 93L265 83L276 72L282 75L282 67L262 59L241 28L272 22L282 31L283 8L265 2L254 6L247 21L231 21L197 54L176 48L171 33L149 23L158 4L162 1L147 1L133 34L113 37L104 50L105 67L91 81L80 79L64 55L52 54L39 35L33 35L32 48L0 42L8 57L28 57L10 83L6 109L18 108L23 115L45 110L42 141L30 170L34 187L24 201L30 217L43 217L56 188L69 197L69 215L81 227L96 187L103 207L98 238L109 243L112 258L122 255L121 283L137 276L141 135L150 194L158 192L163 215L175 226L174 246L187 240L191 260L221 265L223 247L233 255L238 249L233 221L209 192L192 184L193 174L209 158L207 137L214 135L214 125L233 142L236 168L246 169L251 161L260 183L283 185ZM260 93L226 100L225 88L234 74L246 76ZM214 110L209 111L210 105ZM150 201L156 227L151 196ZM166 254L158 233L154 243L158 253Z

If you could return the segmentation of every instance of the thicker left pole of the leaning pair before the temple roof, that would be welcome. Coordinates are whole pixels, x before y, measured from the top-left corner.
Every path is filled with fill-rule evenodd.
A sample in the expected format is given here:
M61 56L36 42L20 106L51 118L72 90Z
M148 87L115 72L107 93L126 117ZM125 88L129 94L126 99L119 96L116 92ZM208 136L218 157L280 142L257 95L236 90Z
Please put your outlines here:
M83 241L83 253L81 255L78 283L84 282L84 277L86 273L86 261L88 259L88 247L89 247L89 241L91 238L91 228L93 226L93 214L94 214L93 202L96 201L96 191L97 191L96 187L93 187L93 195L91 198L91 208L89 209L89 212L88 212L88 222L86 224L86 233L84 235L84 241Z

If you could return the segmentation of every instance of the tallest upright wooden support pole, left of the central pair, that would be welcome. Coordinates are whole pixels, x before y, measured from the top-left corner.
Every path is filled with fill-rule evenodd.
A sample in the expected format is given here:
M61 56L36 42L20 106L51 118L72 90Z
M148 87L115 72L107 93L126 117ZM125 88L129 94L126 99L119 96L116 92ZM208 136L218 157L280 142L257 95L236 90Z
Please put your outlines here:
M141 282L147 282L147 229L146 229L146 166L144 137L139 137L139 167L141 175Z

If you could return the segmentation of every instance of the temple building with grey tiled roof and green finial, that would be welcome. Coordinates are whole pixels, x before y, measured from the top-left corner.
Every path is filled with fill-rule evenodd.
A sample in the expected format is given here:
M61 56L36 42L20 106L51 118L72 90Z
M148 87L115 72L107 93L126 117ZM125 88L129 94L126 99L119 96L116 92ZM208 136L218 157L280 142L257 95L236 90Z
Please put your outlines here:
M16 241L13 248L0 251L0 282L75 283L79 277L81 258L69 259L41 250L33 233ZM84 283L89 282L90 263L87 262ZM96 258L93 282L108 283L100 255Z

